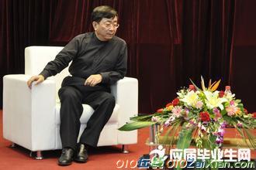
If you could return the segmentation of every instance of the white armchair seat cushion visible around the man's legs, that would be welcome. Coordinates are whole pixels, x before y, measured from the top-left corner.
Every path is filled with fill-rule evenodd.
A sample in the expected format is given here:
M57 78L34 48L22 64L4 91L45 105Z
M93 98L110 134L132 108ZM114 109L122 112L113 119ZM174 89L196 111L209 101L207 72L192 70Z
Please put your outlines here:
M87 124L89 118L92 116L94 110L91 106L88 104L83 104L84 110L83 113L81 114L80 122L81 124ZM60 109L61 109L61 104L57 103L55 107L55 114L56 114L56 124L61 124L61 115L60 115ZM119 105L116 104L112 116L110 117L108 123L116 123L118 120L118 111L119 111ZM104 114L104 113L102 113Z

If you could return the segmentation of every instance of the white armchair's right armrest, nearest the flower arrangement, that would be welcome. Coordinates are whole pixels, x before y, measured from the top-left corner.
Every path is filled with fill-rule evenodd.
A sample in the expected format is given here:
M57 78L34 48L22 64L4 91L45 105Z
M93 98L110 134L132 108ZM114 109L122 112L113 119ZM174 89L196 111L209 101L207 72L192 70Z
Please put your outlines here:
M111 86L111 92L119 105L118 128L138 114L138 80L124 77ZM118 131L119 144L137 143L137 131Z

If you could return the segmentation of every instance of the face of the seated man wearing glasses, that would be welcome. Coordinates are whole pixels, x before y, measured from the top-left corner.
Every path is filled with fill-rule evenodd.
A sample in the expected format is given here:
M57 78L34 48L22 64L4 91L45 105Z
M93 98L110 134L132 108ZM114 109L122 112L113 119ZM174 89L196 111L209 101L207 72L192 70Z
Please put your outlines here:
M117 17L113 19L103 18L100 22L92 22L92 26L95 29L95 34L101 41L109 41L116 34L116 29L119 24L117 23Z

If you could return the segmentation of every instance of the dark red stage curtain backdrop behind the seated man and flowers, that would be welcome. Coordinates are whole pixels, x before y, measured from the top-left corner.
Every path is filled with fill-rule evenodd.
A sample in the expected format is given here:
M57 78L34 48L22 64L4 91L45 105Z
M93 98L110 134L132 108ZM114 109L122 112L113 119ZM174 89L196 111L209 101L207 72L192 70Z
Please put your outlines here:
M92 31L95 6L119 12L117 36L128 45L128 74L139 80L139 111L152 113L189 78L222 80L256 110L256 2L250 0L0 0L2 76L24 73L24 48L64 46ZM1 102L2 104L2 102Z

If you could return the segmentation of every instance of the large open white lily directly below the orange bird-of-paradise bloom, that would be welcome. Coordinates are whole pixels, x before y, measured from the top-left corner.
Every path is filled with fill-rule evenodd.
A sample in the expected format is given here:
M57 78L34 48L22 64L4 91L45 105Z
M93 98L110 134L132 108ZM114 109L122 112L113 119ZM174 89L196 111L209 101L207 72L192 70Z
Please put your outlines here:
M220 110L223 110L223 103L227 102L226 98L219 97L219 91L214 91L213 93L210 91L204 91L206 95L206 106L209 109L213 109L214 107L220 107Z

